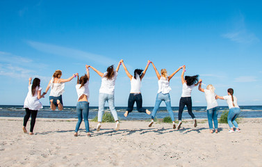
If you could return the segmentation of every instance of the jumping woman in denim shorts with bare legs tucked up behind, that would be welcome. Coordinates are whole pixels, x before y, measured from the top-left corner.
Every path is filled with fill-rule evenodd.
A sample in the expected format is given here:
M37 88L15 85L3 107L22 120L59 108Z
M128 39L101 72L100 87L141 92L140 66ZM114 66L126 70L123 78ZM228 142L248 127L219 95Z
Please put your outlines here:
M60 77L62 76L62 71L56 70L56 72L54 72L53 77L49 81L49 84L44 92L44 94L47 94L47 91L51 87L49 101L50 108L53 111L56 110L56 106L58 106L60 111L63 110L62 94L65 92L65 82L71 81L74 77L76 77L76 74L73 74L72 77L69 77L68 79L61 79Z

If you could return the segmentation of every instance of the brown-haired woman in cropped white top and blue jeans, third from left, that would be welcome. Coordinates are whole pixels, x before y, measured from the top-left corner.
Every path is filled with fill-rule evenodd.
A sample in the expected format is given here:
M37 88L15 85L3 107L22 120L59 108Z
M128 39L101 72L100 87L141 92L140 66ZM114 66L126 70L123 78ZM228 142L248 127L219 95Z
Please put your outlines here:
M88 137L91 136L89 132L89 122L88 122L88 114L89 114L89 70L88 65L85 65L86 74L80 77L79 80L79 74L77 74L77 84L76 84L76 93L78 96L77 104L76 104L76 112L77 117L79 118L79 121L76 123L76 130L74 131L74 136L78 136L77 132L79 132L79 127L81 125L82 120L85 122L85 129L88 134Z

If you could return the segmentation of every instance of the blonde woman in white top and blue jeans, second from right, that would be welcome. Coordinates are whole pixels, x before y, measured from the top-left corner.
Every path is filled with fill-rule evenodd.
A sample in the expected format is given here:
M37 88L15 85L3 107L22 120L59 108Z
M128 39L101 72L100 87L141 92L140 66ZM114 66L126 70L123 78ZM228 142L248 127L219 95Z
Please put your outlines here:
M205 93L207 103L206 111L210 133L213 133L213 122L215 126L215 133L218 133L218 102L215 100L215 88L211 84L206 86L206 89L202 88L201 86L202 81L199 83L198 90Z

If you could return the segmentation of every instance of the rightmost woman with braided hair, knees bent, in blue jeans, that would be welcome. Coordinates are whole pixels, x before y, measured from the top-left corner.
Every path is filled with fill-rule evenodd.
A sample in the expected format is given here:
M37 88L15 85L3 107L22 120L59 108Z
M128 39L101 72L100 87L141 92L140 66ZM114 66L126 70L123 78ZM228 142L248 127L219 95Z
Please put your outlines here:
M238 118L240 114L240 108L238 106L238 100L236 99L236 96L234 96L233 94L234 90L232 88L229 88L227 90L226 96L216 96L217 99L227 100L227 104L229 105L229 115L227 116L227 122L230 127L229 133L234 132L233 125L236 127L236 132L240 132L238 122L236 122L236 118Z

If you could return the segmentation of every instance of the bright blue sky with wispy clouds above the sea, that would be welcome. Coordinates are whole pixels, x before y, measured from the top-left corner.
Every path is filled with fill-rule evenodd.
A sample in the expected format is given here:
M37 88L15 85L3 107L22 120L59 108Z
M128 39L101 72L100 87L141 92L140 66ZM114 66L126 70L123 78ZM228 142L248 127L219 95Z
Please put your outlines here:
M147 60L171 74L213 84L218 95L234 88L239 105L262 104L261 1L0 1L0 104L23 104L28 77L46 88L55 70L62 78L101 72L124 59L129 72ZM181 71L170 81L171 104L179 106ZM144 106L158 90L152 65L142 80ZM65 106L76 105L76 79L65 84ZM90 71L90 106L98 105L101 78ZM130 81L120 67L115 106L127 106ZM49 93L48 93L49 95ZM42 104L49 105L48 95ZM193 106L205 106L193 90ZM227 105L219 100L218 104Z

